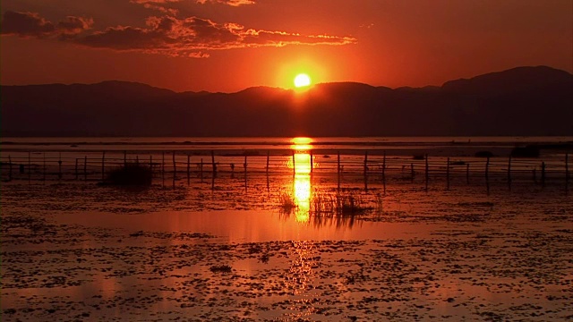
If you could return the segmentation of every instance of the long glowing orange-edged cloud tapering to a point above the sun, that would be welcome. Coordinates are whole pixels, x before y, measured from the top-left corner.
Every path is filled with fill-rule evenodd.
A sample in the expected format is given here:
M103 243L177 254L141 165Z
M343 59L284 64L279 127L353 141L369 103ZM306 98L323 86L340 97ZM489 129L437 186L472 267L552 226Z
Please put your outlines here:
M172 56L207 57L209 50L286 45L346 45L355 38L329 35L304 36L283 31L245 29L237 23L171 16L150 17L147 28L110 27L74 41L85 47L140 51Z

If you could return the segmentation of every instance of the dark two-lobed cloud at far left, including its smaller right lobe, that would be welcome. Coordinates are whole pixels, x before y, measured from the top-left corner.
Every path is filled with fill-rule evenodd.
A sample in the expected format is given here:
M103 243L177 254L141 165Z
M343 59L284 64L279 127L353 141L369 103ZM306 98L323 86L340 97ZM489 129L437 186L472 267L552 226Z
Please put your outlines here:
M62 36L70 38L89 30L93 19L68 16L56 25L39 16L38 13L19 13L7 11L0 22L0 34L22 38L48 38Z

